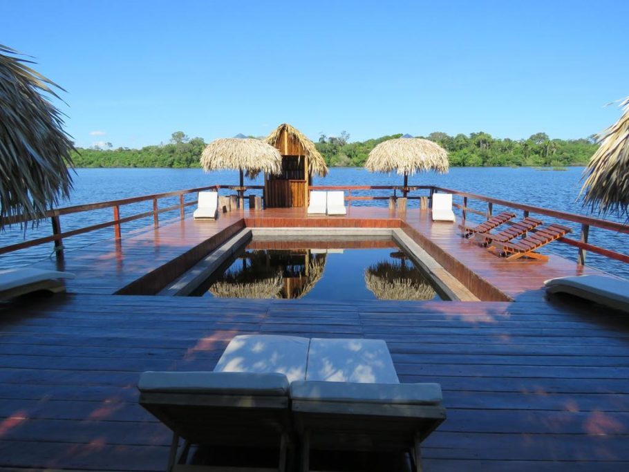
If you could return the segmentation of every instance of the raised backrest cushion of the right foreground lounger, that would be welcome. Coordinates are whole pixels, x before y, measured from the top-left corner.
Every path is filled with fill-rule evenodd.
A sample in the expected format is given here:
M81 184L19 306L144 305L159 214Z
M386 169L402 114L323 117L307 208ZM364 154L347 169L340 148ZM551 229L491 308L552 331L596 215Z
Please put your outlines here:
M306 380L290 384L290 398L325 402L436 405L441 403L443 397L439 384L353 384Z

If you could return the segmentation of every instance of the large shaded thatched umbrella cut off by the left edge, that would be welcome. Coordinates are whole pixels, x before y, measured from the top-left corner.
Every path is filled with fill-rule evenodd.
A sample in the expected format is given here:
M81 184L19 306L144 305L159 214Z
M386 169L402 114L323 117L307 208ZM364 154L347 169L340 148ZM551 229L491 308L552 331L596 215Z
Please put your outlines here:
M41 218L72 189L73 143L62 113L41 95L63 89L17 54L0 45L0 226L20 214Z

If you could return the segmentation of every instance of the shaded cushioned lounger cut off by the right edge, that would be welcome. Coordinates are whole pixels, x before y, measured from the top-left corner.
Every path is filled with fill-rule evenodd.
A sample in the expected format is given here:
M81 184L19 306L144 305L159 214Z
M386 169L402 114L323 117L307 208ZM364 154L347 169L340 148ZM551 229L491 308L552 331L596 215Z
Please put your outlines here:
M560 277L544 282L549 293L566 293L629 312L629 281L602 275Z

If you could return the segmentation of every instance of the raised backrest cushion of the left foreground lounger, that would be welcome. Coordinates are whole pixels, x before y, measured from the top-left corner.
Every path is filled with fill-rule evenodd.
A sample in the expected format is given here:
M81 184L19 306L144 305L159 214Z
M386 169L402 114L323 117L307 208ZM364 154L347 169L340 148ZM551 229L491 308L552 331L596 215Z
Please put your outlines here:
M248 372L144 372L138 382L141 392L216 395L287 395L288 386L283 374Z

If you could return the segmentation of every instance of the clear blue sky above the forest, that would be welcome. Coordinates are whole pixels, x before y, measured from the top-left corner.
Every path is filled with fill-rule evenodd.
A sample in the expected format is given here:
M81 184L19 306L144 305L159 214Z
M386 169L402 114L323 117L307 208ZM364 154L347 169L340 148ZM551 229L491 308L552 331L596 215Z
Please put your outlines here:
M581 138L629 95L623 1L0 0L79 146L487 131ZM11 21L6 21L10 18Z

